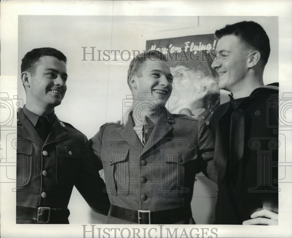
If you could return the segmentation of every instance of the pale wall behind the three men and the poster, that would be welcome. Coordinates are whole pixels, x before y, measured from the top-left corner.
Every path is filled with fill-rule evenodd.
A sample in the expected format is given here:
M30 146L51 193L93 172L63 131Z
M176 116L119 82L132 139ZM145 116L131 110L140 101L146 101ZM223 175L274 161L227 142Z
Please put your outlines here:
M126 83L129 61L82 61L81 47L98 50L144 50L146 40L211 34L225 24L242 20L260 23L270 37L271 55L264 81L278 79L278 18L277 17L198 17L198 16L38 16L18 18L18 76L20 63L33 48L53 47L68 59L67 92L55 109L61 120L74 125L91 138L99 127L122 117L122 102L130 94ZM97 53L97 52L95 52ZM96 57L97 58L97 55ZM18 79L18 96L25 92ZM222 97L224 99L224 97ZM225 99L224 99L225 100ZM207 185L206 185L207 184ZM194 188L192 210L198 224L212 223L216 201L216 185L198 176ZM69 204L70 223L102 223L102 215L91 212L74 190Z

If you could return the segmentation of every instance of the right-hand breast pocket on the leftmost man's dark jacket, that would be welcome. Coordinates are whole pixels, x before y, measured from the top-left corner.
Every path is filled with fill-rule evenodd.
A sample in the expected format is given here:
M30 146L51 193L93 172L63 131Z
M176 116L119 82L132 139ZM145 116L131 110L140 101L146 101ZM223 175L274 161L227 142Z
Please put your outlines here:
M75 145L57 145L56 181L59 186L72 188L81 166L81 148Z

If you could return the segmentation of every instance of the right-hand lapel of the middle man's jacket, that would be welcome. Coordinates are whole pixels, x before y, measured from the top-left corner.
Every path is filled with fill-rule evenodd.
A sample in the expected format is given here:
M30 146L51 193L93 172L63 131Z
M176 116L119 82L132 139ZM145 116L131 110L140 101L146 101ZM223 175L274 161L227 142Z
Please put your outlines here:
M160 113L158 123L154 126L151 136L146 142L145 147L142 150L141 156L149 149L156 145L157 141L164 138L173 127L171 124L175 123L173 115L164 108L165 111Z

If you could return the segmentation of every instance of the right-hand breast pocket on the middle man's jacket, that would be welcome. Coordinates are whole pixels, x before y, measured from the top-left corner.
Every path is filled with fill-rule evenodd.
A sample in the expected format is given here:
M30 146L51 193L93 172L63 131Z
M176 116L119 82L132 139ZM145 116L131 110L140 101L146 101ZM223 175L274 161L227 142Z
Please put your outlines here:
M164 197L183 197L193 189L196 175L197 146L168 147L160 151L161 188ZM165 163L163 163L165 162Z

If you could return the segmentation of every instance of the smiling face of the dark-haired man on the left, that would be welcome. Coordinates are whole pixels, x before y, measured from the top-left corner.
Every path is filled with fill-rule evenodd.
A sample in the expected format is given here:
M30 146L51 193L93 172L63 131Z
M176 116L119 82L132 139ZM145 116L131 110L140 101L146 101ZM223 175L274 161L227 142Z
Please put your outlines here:
M27 72L27 103L41 108L61 104L67 90L66 64L53 56L42 56L35 63L34 72Z

